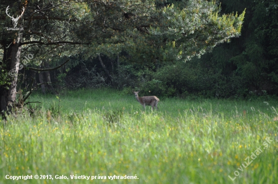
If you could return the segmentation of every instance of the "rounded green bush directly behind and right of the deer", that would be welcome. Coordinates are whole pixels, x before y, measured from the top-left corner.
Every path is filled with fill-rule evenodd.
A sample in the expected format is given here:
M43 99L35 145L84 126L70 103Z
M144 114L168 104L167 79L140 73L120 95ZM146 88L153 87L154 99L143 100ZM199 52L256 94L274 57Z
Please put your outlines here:
M161 67L151 75L151 80L142 83L140 89L148 96L163 97L181 94L200 97L226 97L222 90L225 81L220 71L206 70L196 61L176 63Z

